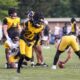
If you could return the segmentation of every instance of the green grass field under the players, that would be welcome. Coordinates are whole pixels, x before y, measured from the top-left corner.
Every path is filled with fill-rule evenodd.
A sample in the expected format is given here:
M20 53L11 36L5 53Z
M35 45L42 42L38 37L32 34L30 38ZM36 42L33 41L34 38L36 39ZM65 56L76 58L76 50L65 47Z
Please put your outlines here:
M80 80L80 60L73 54L71 60L65 65L64 69L52 70L52 62L55 54L53 45L50 49L43 49L45 62L49 67L34 67L30 63L21 69L21 73L16 73L16 69L5 69L5 54L3 46L0 46L0 80ZM64 60L66 53L63 53L60 59ZM35 60L36 62L36 60Z

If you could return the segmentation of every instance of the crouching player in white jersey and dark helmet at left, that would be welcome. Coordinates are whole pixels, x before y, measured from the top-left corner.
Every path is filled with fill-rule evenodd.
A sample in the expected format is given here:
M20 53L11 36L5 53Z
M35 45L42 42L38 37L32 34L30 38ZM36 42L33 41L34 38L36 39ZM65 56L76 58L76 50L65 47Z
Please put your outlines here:
M19 37L17 34L12 35L11 41L6 40L5 44L6 54L6 68L17 68L18 57L15 59L15 55L19 51Z

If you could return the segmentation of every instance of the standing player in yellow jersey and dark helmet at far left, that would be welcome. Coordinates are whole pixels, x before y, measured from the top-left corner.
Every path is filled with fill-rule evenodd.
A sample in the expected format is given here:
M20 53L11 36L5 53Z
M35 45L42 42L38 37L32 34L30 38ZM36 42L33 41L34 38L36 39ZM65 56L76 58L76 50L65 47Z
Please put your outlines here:
M15 8L9 8L8 15L3 20L3 34L7 40L11 40L12 33L21 30L20 18L17 16Z

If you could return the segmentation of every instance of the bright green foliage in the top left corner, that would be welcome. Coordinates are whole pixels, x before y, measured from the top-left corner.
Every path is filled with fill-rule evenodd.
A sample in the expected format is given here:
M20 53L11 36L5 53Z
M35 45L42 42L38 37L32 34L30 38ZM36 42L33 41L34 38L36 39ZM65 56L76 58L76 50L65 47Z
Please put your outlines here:
M3 19L8 15L8 9L10 7L18 7L17 0L0 0L0 19Z

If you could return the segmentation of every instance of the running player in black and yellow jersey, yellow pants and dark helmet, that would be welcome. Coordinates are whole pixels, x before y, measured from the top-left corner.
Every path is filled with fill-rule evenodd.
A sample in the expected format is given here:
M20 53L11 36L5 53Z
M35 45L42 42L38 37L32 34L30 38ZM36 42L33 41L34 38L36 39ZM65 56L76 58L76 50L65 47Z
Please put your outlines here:
M25 23L25 29L20 35L20 59L18 62L17 72L20 73L20 68L24 59L27 61L32 58L32 47L36 41L36 35L41 33L44 28L44 17L40 12L35 12L33 19Z

